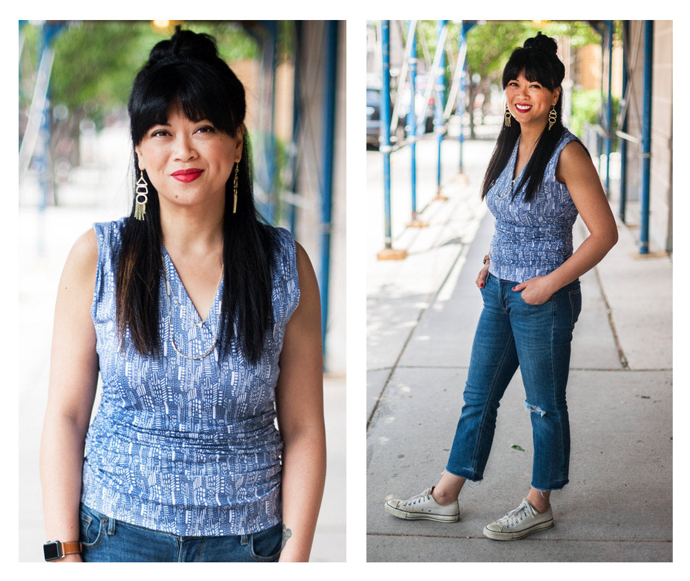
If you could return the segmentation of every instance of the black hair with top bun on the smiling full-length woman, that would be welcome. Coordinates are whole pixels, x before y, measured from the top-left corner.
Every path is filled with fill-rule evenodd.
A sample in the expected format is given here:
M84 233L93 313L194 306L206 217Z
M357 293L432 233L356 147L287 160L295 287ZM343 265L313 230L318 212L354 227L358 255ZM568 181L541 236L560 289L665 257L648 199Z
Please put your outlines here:
M538 32L536 37L524 41L522 48L513 50L508 63L506 63L503 69L503 89L505 90L510 81L517 79L521 72L527 81L538 82L551 91L559 88L565 77L565 67L556 55L557 50L558 46L555 40L542 35L541 32ZM524 168L522 179L513 188L513 197L525 184L527 185L524 201L530 201L537 193L544 179L546 164L549 163L549 159L551 159L551 155L553 155L553 151L564 131L562 103L563 91L561 90L560 95L558 95L558 101L555 104L555 124L553 124L551 129L548 128L548 125L544 127L537 146ZM489 161L489 168L487 168L486 175L484 175L482 199L486 197L489 188L493 186L504 170L513 153L518 137L520 137L520 124L515 119L513 119L513 123L509 127L502 124L491 161Z

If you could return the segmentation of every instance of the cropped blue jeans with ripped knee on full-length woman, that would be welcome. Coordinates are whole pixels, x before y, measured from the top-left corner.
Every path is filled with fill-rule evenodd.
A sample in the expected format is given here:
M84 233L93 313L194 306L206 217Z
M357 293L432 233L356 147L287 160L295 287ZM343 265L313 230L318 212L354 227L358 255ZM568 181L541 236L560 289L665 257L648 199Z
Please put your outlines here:
M541 305L511 290L515 282L489 275L477 325L464 406L446 471L482 480L493 442L499 402L520 366L534 446L531 485L561 489L568 483L570 426L565 389L573 328L582 308L580 282L564 286Z

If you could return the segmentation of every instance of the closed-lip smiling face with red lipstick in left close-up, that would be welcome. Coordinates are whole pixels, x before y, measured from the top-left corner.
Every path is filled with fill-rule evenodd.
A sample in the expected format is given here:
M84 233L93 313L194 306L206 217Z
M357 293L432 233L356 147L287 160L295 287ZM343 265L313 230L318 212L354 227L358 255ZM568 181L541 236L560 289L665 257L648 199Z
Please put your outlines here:
M158 190L161 206L218 204L235 162L242 135L230 136L210 121L190 121L171 106L165 124L152 126L135 147L139 169Z

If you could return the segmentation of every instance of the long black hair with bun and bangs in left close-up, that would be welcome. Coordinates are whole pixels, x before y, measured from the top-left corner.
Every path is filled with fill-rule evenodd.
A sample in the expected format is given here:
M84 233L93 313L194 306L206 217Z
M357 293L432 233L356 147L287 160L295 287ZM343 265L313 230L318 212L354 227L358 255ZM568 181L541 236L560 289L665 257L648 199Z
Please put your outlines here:
M246 359L256 362L273 326L271 291L277 242L273 228L259 216L254 204L251 150L244 127L244 86L219 57L213 37L180 30L179 26L172 38L152 48L148 62L135 78L128 104L132 146L139 145L152 126L166 123L168 110L176 104L191 121L208 119L218 130L233 137L241 133L243 138L237 213L228 210L233 208L234 171L226 184L224 286L218 344L221 355L226 355L230 339L236 334ZM121 230L117 262L117 328L120 337L129 328L139 353L157 355L159 282L164 268L160 206L146 170L139 170L135 152L135 182L141 175L148 182L146 217L135 219L133 195L132 212Z

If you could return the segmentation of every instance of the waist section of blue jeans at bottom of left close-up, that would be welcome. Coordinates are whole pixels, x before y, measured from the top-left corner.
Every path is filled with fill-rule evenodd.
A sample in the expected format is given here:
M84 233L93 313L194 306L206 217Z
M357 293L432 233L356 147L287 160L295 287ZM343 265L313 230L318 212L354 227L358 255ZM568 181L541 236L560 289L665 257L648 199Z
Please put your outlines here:
M85 562L271 562L282 550L282 524L248 535L180 537L79 507Z

